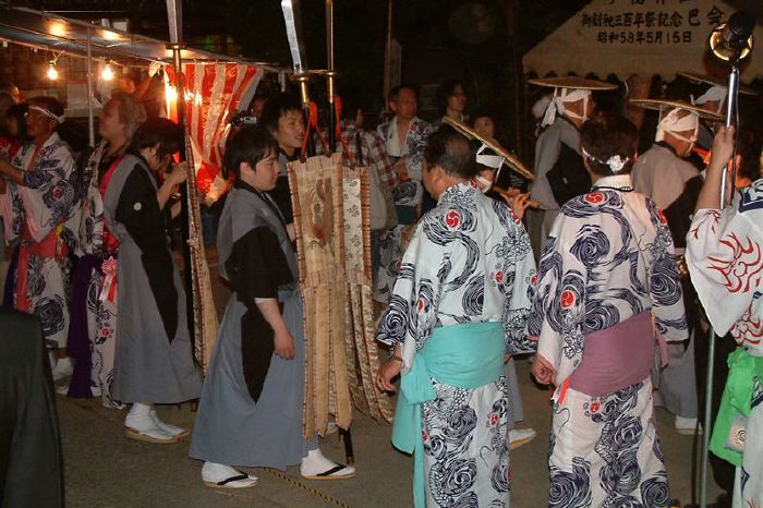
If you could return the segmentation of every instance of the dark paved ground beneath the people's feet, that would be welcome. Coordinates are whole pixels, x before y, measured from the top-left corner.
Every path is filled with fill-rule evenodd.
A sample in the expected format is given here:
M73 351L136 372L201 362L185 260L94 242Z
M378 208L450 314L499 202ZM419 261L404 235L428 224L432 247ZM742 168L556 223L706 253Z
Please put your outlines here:
M209 259L215 273L214 252ZM218 306L223 305L226 290L216 285L215 293ZM511 504L514 508L540 508L545 506L548 492L549 392L531 382L525 361L518 361L517 370L524 399L524 426L534 427L538 437L512 452ZM122 430L124 412L107 410L96 401L59 398L58 410L69 508L411 506L412 460L391 447L388 425L363 415L356 415L352 427L358 468L353 480L303 482L298 468L287 471L287 480L252 470L259 476L259 485L231 492L202 484L201 462L187 457L187 442L160 446L128 439ZM189 404L160 407L158 411L170 423L193 424ZM657 410L657 418L673 496L687 504L691 499L692 438L677 434L665 411ZM324 439L322 448L335 460L343 460L343 447L336 435ZM713 484L710 498L717 494Z

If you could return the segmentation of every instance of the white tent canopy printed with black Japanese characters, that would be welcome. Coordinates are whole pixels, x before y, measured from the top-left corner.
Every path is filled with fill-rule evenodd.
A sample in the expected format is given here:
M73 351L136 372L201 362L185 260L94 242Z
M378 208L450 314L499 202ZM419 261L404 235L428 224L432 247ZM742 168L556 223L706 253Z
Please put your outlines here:
M717 64L708 56L710 34L736 10L720 0L593 0L524 55L524 72L592 72L620 80L711 72ZM763 26L755 26L753 38L763 46ZM763 76L763 47L741 71L742 80L758 76Z

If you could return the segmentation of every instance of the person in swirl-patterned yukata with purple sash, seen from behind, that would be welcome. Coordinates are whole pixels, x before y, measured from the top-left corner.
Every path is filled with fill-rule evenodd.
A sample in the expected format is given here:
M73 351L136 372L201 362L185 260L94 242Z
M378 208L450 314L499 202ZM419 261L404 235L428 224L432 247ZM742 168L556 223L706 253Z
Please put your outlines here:
M667 340L688 335L673 239L631 186L635 126L600 116L581 138L593 186L552 227L528 322L540 338L533 374L556 385L548 506L664 507L650 373L655 324Z

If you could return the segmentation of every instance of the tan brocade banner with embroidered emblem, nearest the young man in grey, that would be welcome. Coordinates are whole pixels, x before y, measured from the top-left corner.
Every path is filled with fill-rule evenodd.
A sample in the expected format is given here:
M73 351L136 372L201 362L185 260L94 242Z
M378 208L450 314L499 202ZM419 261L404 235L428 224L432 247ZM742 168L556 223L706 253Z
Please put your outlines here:
M324 435L329 414L341 428L352 423L341 155L290 162L288 172L304 299L303 432L305 436Z

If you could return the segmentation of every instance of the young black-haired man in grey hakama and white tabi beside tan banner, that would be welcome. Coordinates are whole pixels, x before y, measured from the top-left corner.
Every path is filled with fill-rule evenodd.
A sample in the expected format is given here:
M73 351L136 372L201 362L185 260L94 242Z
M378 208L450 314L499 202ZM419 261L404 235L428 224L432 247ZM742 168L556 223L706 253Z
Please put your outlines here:
M213 488L246 488L257 477L231 465L301 464L308 480L344 480L355 470L327 459L316 436L302 436L305 347L292 239L268 191L279 176L278 143L246 126L226 147L235 181L220 216L220 276L232 293L218 334L190 456L204 460Z

